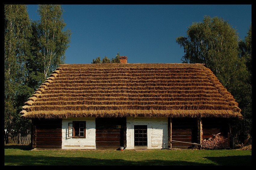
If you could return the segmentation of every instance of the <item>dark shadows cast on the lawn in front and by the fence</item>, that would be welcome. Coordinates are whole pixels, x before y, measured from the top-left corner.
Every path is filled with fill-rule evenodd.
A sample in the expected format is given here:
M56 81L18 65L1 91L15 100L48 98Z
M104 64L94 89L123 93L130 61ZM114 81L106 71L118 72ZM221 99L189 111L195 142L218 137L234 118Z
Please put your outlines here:
M30 145L5 145L5 149L31 150ZM53 157L30 155L5 155L5 165L251 165L251 156L204 157L214 163L188 161L144 160L127 161L123 159L93 159L86 157Z

